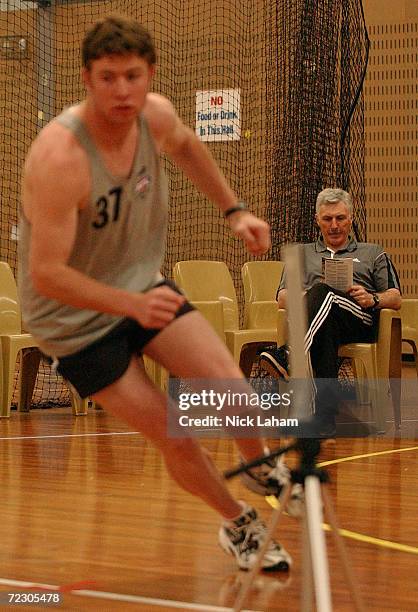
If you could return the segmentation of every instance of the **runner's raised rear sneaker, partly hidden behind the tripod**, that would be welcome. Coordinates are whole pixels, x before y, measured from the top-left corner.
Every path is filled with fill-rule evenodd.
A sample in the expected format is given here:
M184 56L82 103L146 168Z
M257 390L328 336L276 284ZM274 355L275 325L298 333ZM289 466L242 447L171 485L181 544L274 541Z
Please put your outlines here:
M251 468L241 474L243 484L254 493L279 497L283 488L290 482L290 470L285 463L276 459L267 459L265 463ZM286 512L300 518L305 509L305 493L299 483L292 485Z

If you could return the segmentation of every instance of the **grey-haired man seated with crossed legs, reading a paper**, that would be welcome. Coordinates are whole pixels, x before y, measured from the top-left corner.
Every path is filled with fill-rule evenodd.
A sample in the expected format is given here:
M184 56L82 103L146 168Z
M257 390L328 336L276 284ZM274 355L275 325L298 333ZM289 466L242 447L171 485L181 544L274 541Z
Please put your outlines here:
M321 237L303 245L308 331L305 348L317 380L315 415L319 435L335 435L338 398L323 379L338 377L338 347L350 342L373 342L380 308L401 306L399 279L384 249L357 242L350 235L351 196L342 189L324 189L317 197L315 219ZM322 260L353 259L353 285L346 293L323 282ZM286 274L277 292L279 308L287 306ZM260 365L275 377L288 377L286 347L264 350ZM319 383L322 383L319 386Z

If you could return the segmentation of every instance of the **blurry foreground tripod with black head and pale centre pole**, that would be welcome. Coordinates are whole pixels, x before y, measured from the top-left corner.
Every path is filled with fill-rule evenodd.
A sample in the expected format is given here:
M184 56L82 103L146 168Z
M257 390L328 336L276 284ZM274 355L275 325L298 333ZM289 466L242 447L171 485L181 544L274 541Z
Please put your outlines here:
M263 546L260 549L259 556L255 566L250 571L246 582L243 584L241 591L234 604L234 612L242 610L242 606L248 596L250 588L254 582L257 572L260 570L263 557L267 551L268 545L273 537L273 533L279 523L279 519L283 513L283 509L289 500L291 494L291 486L293 483L301 483L305 490L305 516L303 522L303 579L302 579L302 596L301 610L302 612L310 612L312 610L313 587L315 587L316 609L319 612L331 612L331 591L329 582L328 557L325 546L325 537L322 529L322 505L328 515L329 523L332 527L332 533L335 538L337 551L340 562L344 570L347 586L351 593L354 603L354 609L357 612L364 612L364 606L360 596L356 590L356 584L350 563L347 557L345 546L342 537L339 533L335 512L332 502L326 487L321 484L328 481L328 474L325 470L318 468L316 459L320 452L320 441L315 438L300 438L293 444L289 444L280 448L270 455L260 457L245 465L240 465L238 468L225 472L225 478L233 478L237 474L248 470L249 468L261 465L268 459L272 459L287 453L291 450L296 450L300 453L300 463L296 470L291 471L291 482L287 485L279 498L279 507L273 511L271 516L266 538ZM321 497L322 492L322 497Z

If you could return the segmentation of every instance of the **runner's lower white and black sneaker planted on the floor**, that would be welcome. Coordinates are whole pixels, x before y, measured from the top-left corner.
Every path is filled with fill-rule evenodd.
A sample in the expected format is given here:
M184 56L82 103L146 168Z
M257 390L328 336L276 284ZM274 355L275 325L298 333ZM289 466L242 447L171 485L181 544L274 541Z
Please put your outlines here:
M246 506L235 520L224 521L219 530L219 543L225 552L233 555L238 567L250 570L257 561L267 528L254 508ZM288 571L292 565L289 553L274 540L270 540L262 561L267 571Z

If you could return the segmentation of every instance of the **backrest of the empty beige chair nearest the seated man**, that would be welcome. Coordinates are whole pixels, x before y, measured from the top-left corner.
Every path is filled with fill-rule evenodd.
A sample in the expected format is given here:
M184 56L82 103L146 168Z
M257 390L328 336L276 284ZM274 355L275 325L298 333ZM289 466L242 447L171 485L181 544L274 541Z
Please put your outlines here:
M245 302L275 300L283 268L282 261L247 261L242 267Z

